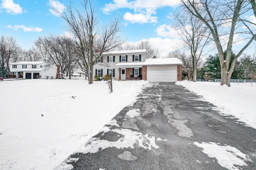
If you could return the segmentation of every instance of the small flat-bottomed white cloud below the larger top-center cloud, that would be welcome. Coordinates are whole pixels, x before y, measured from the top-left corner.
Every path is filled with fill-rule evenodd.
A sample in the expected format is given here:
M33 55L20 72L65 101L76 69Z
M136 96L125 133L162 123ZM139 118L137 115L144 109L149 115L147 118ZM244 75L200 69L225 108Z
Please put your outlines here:
M157 18L156 16L151 16L148 14L131 14L130 12L126 12L124 14L124 19L131 22L131 23L140 23L140 24L144 24L144 23L153 23L153 22L157 22Z

